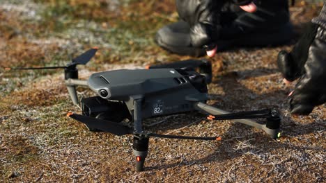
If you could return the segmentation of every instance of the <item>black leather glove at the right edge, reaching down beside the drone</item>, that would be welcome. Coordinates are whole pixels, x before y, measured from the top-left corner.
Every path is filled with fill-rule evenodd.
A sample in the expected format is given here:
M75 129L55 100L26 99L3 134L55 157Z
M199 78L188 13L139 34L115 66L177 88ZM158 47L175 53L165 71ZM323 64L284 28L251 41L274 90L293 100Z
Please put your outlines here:
M326 30L310 23L290 53L279 52L279 69L289 81L300 78L290 95L293 114L308 115L326 102Z

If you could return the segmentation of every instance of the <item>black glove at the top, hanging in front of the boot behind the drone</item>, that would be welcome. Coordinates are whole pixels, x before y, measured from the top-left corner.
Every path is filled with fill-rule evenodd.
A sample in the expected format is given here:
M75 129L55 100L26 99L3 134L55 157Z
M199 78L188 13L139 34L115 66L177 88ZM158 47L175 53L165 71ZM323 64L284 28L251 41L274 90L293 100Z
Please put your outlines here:
M252 0L176 0L178 14L190 26L192 45L214 48L219 36L220 13L229 1L237 5L246 5Z

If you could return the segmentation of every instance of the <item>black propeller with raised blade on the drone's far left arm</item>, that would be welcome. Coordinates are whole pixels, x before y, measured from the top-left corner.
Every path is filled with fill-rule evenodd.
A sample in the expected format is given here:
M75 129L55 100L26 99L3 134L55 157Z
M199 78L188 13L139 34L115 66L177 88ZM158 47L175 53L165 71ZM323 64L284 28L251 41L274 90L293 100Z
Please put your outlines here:
M5 68L5 70L37 70L37 69L67 69L71 67L75 67L78 64L87 64L91 58L95 55L98 48L89 49L88 51L82 53L77 58L73 58L72 62L67 64L66 66L54 66L54 67L15 67L15 68Z

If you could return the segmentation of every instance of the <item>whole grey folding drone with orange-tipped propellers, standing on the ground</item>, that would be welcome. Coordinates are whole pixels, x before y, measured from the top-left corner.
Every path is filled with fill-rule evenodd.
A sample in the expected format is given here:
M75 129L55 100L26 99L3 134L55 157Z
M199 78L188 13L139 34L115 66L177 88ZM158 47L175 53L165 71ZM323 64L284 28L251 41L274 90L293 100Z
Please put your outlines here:
M144 170L150 137L167 139L221 140L220 137L191 137L155 134L143 130L143 120L198 111L208 114L209 120L234 120L265 131L272 139L280 135L280 115L277 110L256 110L228 113L206 104L209 100L208 83L212 80L212 65L208 60L183 60L171 64L158 64L147 69L119 69L93 73L88 80L78 79L77 65L87 64L97 48L72 59L62 67L6 68L64 69L65 85L72 103L79 105L76 87L88 87L96 96L82 98L82 114L69 112L68 117L84 123L90 131L109 132L133 136L132 151L136 171ZM123 125L121 121L132 121ZM252 119L265 119L254 121Z

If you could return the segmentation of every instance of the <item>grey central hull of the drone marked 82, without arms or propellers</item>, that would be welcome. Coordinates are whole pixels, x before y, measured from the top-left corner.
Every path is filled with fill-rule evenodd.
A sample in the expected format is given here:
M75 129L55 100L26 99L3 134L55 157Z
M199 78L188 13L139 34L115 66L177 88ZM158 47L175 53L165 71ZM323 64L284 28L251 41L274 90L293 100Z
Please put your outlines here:
M134 101L141 101L142 118L192 111L194 102L208 100L203 76L196 72L180 74L176 69L93 73L88 86L105 100L123 101L130 114L134 114Z

